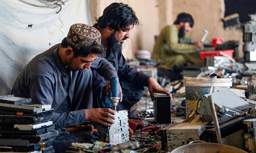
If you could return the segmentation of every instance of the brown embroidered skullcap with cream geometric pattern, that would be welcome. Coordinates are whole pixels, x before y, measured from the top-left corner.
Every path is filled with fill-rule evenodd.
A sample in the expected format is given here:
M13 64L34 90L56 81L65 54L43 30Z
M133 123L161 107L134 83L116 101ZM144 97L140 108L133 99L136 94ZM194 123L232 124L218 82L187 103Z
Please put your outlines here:
M96 28L87 24L75 23L69 29L67 41L76 49L90 46L94 41L100 46L101 34Z

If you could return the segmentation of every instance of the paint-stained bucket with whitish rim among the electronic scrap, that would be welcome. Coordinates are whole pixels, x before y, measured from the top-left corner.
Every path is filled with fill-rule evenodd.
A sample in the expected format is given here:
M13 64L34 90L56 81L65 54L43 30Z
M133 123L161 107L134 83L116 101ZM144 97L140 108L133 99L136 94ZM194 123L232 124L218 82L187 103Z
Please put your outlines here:
M203 95L209 94L211 87L232 87L232 78L184 78L186 92L186 117L197 109L197 103Z

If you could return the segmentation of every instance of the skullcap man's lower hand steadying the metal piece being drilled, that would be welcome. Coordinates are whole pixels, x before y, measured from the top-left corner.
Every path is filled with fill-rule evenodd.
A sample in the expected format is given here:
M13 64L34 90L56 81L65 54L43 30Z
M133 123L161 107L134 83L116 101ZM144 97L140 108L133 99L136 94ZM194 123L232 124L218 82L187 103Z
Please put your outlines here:
M99 123L105 126L111 127L111 124L114 124L113 121L115 119L114 117L115 111L113 111L110 108L91 108L91 109L85 109L85 118L87 121ZM113 120L111 120L111 119ZM106 123L109 122L109 123Z

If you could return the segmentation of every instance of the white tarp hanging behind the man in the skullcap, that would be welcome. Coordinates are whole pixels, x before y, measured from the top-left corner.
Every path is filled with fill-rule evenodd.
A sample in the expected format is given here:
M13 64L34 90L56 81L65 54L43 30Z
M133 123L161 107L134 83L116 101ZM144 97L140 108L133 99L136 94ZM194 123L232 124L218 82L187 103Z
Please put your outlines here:
M74 23L91 25L89 0L0 0L0 96L37 54L60 43Z

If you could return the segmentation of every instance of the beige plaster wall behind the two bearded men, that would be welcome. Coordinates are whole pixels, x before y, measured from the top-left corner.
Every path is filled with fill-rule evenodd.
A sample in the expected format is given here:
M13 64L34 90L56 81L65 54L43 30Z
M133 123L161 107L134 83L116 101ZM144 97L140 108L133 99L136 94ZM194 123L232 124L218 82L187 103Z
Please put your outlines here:
M242 44L241 30L224 30L221 19L224 17L224 0L90 0L90 9L93 23L102 15L104 8L113 2L128 4L136 12L137 17L143 24L131 30L131 38L123 44L123 54L132 58L138 50L153 51L155 35L160 30L173 24L177 15L182 12L189 13L195 20L192 31L186 37L194 41L201 40L203 29L209 31L206 40L221 37L225 41L239 40ZM240 45L240 57L242 57L242 45Z

